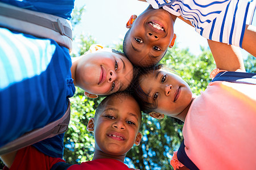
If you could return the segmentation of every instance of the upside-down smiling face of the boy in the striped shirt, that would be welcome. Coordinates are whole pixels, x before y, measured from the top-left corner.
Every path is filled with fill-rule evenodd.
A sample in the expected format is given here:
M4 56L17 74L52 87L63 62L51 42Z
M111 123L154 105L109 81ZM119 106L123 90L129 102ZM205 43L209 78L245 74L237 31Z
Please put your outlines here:
M166 10L148 8L134 20L127 35L127 58L142 67L158 63L174 36L173 24Z

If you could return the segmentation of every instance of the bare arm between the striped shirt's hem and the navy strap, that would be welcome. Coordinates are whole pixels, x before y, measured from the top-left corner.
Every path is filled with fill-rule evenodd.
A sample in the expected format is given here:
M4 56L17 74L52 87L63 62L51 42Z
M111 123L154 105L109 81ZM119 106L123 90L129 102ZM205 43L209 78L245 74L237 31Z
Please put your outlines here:
M227 71L245 71L240 49L236 46L207 40L217 69Z

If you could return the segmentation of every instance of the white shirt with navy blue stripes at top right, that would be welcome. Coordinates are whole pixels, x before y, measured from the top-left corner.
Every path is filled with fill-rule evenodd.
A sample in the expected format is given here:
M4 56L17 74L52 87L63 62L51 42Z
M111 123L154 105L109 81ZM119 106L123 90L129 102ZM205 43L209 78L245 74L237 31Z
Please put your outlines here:
M242 48L246 24L251 24L255 0L147 0L158 9L182 16L201 36Z

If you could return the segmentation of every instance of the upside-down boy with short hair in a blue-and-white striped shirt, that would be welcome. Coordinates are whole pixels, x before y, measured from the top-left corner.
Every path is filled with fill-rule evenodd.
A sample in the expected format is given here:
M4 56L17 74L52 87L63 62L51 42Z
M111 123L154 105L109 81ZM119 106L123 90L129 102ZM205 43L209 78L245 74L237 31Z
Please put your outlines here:
M200 3L209 4L211 7L214 6L218 11L214 11L213 7L210 8L211 10L204 9L204 11L201 11L203 9L198 6L193 6L196 9L193 8L191 11L183 14L183 8L187 7L183 3L194 3L194 1L172 1L167 4L166 1L155 2L154 0L148 0L153 7L151 5L148 6L138 18L136 15L131 16L129 22L126 24L126 27L130 29L127 31L125 39L123 40L123 52L134 65L141 67L155 65L163 58L164 54L167 52L168 46L171 48L174 45L174 23L178 17L195 27L197 32L201 30L199 33L201 36L208 39L208 44L215 60L216 58L219 59L226 56L226 52L222 49L222 46L224 46L224 48L228 46L230 49L228 55L238 55L236 52L233 52L234 47L229 44L240 46L253 56L256 56L256 51L253 47L256 43L256 28L250 25L255 10L255 1L237 2L238 6L242 3L242 6L238 7L238 10L235 10L235 1L236 0L225 1L226 8L215 7L220 6L218 3L210 4L208 1L201 1ZM176 3L180 3L180 6L183 8L181 9ZM226 3L232 4L232 7ZM245 5L247 5L248 8L245 8ZM171 12L170 8L176 9L177 7L180 7L176 10L177 12ZM220 20L222 19L222 14L225 12L225 9L228 11L228 14L226 15L229 18L234 18L234 20L233 23L230 23L230 20L227 21L225 20L226 17L224 17L221 25ZM235 12L232 13L233 9ZM200 16L196 14L193 16L192 14L195 13L192 12L193 10L203 13ZM236 12L238 13L236 14ZM189 16L191 16L191 18L189 18ZM199 18L196 18L196 16ZM203 24L199 22L201 19L200 17L203 18ZM241 19L243 17L244 20ZM201 28L201 24L207 28ZM218 33L220 35L217 35ZM217 42L218 46L216 48ZM225 53L225 55L222 53L216 55L216 51L218 53L219 50Z

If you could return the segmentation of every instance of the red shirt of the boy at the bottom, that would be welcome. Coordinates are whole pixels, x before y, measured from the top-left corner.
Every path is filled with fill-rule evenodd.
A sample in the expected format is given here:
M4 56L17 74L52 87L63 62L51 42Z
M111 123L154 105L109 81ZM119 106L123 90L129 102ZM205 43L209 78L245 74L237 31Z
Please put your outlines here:
M53 158L47 156L37 150L33 146L28 146L20 149L14 159L10 170L47 170L51 169L52 166L58 162L65 162L61 158ZM115 160L115 159L96 159L88 162L83 162L81 164L74 164L68 168L68 170L79 170L79 169L99 169L99 170L129 170L127 165ZM9 170L9 168L4 167L3 170Z

